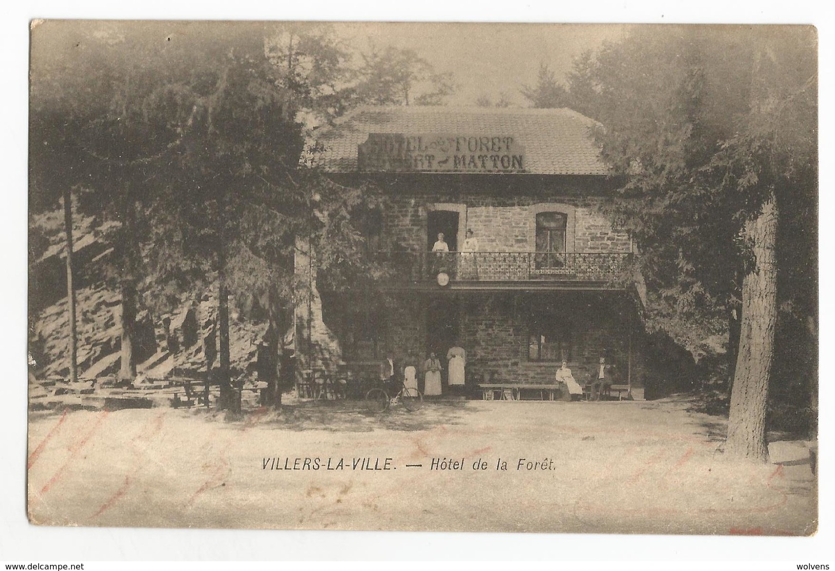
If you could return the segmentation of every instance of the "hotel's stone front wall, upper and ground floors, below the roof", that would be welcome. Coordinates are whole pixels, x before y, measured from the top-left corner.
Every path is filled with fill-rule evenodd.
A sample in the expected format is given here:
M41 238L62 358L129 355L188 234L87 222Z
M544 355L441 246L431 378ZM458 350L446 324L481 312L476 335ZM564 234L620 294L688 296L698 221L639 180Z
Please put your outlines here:
M566 253L631 253L629 237L615 232L602 211L603 183L605 179L596 177L389 181L379 229L381 248L426 252L433 241L428 236L430 213L445 211L457 213L458 223L449 224L459 245L466 229L473 229L479 255L534 253L537 214L558 212L566 220ZM605 356L623 382L629 379L640 386L640 339L635 333L640 330L640 318L634 297L618 288L536 292L506 288L504 284L512 286L514 280L530 278L505 275L508 268L516 267L514 263L505 263L498 272L501 276L485 277L490 268L478 268L482 280L504 280L493 291L407 288L387 293L385 307L382 297L372 298L377 312L374 342L342 343L346 349L342 358L372 371L385 353L392 352L397 362L419 369L429 351L434 350L443 361L447 349L458 344L468 354L468 383L550 383L560 357L569 360L575 378L584 382ZM357 300L334 300L334 304L358 305ZM336 337L349 338L352 318L338 317L338 313L324 312L333 316L328 325ZM537 332L542 323L549 323L545 327L551 333L564 335L557 353L553 348L547 355L541 349L532 353L530 344L540 337ZM443 378L446 383L446 370Z

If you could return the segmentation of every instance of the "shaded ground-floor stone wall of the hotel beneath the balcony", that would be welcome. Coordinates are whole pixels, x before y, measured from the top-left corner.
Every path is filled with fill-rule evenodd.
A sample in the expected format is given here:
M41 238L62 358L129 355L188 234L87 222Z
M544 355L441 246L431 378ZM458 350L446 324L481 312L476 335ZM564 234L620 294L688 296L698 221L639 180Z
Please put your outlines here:
M458 341L467 351L468 383L549 383L559 368L555 361L529 358L532 317L539 313L566 319L570 329L569 367L584 380L601 355L620 368L625 382L629 350L629 309L616 293L456 293L448 297L450 320L458 320ZM386 313L386 350L399 363L418 368L427 357L433 323L426 315L432 298L403 294L397 309ZM457 316L457 317L456 317ZM632 381L640 385L640 333L633 333ZM439 355L443 360L443 353ZM350 360L350 359L349 359ZM446 382L446 368L443 373Z

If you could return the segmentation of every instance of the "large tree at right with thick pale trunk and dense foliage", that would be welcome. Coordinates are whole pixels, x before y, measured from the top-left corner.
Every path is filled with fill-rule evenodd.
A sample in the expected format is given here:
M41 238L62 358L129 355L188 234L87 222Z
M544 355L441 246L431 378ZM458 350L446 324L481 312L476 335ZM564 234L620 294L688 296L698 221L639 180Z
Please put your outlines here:
M721 331L741 310L734 458L767 457L778 300L816 314L800 301L808 280L779 278L814 258L814 217L782 213L815 209L815 44L813 28L653 28L584 56L570 78L623 181L610 214L640 247L655 314L676 334L687 323Z

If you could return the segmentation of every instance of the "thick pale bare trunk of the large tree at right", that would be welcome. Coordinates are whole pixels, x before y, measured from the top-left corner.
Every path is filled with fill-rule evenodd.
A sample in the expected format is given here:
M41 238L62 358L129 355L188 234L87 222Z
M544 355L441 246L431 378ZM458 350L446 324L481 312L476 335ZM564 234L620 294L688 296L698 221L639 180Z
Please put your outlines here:
M753 264L742 281L742 320L725 451L731 458L765 462L766 404L777 322L777 204L772 194L746 223Z

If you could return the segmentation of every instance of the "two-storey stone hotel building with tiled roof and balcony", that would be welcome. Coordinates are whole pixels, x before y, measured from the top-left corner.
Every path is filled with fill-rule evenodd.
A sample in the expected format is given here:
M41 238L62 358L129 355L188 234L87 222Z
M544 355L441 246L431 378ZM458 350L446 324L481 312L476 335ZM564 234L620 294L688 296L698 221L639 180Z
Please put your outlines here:
M394 272L384 295L311 288L301 367L373 374L392 352L420 368L458 345L471 386L550 383L562 359L583 382L605 357L640 387L640 276L601 210L615 182L594 126L565 108L366 107L320 133L330 178L383 189L367 241ZM439 233L448 252L433 252Z

